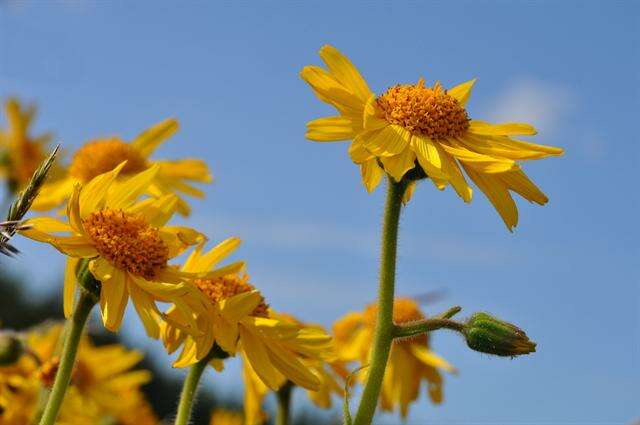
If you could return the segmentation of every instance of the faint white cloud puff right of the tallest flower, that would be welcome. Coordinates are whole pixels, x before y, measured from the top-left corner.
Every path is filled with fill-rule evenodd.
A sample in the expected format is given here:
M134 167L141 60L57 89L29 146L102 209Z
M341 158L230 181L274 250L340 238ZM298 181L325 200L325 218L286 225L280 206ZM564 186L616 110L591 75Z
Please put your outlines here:
M548 135L560 127L572 103L571 93L560 85L520 78L498 96L489 109L489 118L493 122L528 122Z

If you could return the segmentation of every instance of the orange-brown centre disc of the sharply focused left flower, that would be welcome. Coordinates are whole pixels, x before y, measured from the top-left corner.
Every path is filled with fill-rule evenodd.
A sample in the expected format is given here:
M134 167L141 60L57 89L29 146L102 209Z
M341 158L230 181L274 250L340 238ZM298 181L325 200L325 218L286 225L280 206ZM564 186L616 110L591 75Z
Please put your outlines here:
M104 209L82 224L98 253L117 268L151 280L167 267L169 248L144 216Z

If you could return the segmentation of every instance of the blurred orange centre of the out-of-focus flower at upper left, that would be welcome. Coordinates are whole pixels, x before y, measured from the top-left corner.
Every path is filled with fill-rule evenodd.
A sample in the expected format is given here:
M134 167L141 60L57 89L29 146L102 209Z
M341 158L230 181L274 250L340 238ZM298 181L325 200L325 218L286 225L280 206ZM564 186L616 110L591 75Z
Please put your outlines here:
M86 183L113 170L123 161L127 161L127 164L122 169L122 174L139 173L149 166L140 152L120 139L94 140L73 155L69 174Z

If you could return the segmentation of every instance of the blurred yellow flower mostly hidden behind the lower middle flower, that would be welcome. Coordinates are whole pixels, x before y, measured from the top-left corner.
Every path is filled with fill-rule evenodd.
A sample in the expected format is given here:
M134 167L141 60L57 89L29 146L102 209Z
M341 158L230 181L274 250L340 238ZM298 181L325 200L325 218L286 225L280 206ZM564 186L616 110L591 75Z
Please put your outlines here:
M288 314L276 313L270 310L270 317L281 320L284 323L307 326L325 332L320 326L303 325L298 319ZM346 365L337 359L333 351L327 351L323 358L303 357L301 361L305 366L313 370L320 379L318 390L307 390L307 396L319 408L330 409L332 407L332 395L335 394L340 398L344 397L344 382L349 375ZM271 390L260 380L244 356L242 370L245 386L244 415L246 417L246 425L262 424L267 420L267 415L262 409L263 401Z

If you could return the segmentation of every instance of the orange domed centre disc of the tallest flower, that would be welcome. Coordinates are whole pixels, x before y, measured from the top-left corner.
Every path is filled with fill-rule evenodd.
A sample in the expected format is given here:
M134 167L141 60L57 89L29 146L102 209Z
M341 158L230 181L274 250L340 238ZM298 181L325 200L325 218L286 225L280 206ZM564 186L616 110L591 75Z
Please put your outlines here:
M431 139L447 139L464 134L469 128L467 111L440 83L425 87L424 79L417 84L399 84L389 88L376 100L384 119L404 127L412 134Z

